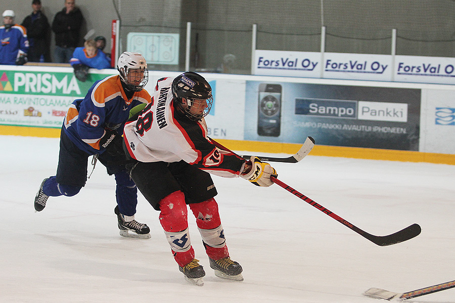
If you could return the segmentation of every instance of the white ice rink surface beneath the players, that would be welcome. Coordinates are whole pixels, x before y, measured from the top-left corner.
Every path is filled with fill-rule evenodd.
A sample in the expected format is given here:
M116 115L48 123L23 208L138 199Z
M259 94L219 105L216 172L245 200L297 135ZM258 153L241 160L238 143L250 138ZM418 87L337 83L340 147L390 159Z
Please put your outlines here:
M283 182L369 233L421 225L416 238L385 247L278 185L214 176L226 241L245 280L215 277L189 216L207 273L198 287L178 271L159 213L141 194L136 219L152 238L119 236L115 181L101 163L79 194L51 197L35 213L39 184L57 168L59 140L0 136L0 143L0 302L379 303L386 301L362 293L455 280L455 166L311 155L273 164ZM407 301L453 303L455 289Z

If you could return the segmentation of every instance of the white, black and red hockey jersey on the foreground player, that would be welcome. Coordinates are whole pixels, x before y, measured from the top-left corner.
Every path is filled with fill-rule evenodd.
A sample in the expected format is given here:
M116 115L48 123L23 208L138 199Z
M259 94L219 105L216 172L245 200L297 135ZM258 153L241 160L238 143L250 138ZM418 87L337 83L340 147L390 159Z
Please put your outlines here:
M124 127L129 155L140 162L185 162L221 177L238 177L245 160L207 137L205 120L192 121L173 106L173 78L158 80L152 102Z

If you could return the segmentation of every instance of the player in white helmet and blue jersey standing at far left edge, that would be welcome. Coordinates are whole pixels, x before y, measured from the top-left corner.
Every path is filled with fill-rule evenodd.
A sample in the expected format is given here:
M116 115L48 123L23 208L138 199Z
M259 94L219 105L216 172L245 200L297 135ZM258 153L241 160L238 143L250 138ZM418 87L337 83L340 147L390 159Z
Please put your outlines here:
M25 27L14 23L14 11L3 12L0 26L0 64L23 65L27 62L28 40Z

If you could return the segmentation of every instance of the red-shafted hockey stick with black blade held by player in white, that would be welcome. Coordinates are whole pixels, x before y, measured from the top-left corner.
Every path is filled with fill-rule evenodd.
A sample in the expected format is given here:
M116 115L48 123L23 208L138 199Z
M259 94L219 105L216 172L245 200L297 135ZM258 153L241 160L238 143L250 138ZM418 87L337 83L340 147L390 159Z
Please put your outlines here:
M295 190L291 186L285 184L284 182L278 180L277 178L272 176L272 177L270 177L270 179L272 181L274 181L275 184L283 187L284 189L286 189L287 191L289 191L293 195L301 198L302 200L304 200L309 205L314 206L315 208L319 209L321 212L323 212L326 215L328 215L328 216L332 217L333 219L337 220L341 224L346 225L347 227L349 227L350 229L352 229L353 231L355 231L356 233L358 233L362 237L367 238L368 240L372 241L376 245L387 246L387 245L400 243L400 242L403 242L403 241L406 241L406 240L409 240L409 239L412 239L412 238L418 236L420 234L420 232L422 231L420 226L419 226L419 224L414 223L413 225L410 225L410 226L408 226L408 227L406 227L406 228L404 228L404 229L402 229L400 231L397 231L396 233L393 233L393 234L390 234L390 235L386 235L386 236L375 236L375 235L369 234L368 232L358 228L357 226L353 225L352 223L349 223L348 221L344 220L343 218L339 217L338 215L332 213L331 211L329 211L328 209L326 209L322 205L317 204L315 201L313 201L312 199L310 199L309 197L307 197L303 193L298 192L297 190Z

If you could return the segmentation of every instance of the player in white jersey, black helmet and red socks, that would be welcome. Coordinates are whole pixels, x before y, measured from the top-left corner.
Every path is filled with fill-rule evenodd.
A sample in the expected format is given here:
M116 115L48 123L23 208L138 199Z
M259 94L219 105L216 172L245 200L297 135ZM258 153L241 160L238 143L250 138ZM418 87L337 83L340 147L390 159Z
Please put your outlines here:
M204 117L212 100L210 85L197 73L162 78L152 103L132 111L124 128L127 156L136 160L127 167L131 178L160 211L160 223L179 270L197 285L203 285L205 271L191 245L187 205L196 217L215 275L243 281L242 267L229 256L210 174L240 176L257 186L270 186L270 175L276 175L268 163L256 157L246 161L210 141Z

